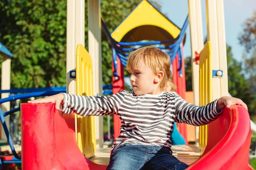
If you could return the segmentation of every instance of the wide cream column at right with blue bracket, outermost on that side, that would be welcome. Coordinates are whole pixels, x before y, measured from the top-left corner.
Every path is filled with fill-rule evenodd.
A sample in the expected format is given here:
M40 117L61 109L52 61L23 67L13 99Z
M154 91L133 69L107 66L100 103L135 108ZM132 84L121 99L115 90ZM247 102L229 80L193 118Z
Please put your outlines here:
M228 95L227 50L223 0L206 0L207 40L212 43L212 69L222 70L222 78L212 79L212 99Z

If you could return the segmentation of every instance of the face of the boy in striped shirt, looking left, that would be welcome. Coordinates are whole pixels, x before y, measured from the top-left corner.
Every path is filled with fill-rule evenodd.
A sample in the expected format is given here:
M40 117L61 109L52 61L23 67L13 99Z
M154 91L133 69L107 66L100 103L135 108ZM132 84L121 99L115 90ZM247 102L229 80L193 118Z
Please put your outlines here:
M158 85L154 82L156 76L142 59L138 63L137 68L128 71L131 74L130 82L135 94L159 94L157 91Z

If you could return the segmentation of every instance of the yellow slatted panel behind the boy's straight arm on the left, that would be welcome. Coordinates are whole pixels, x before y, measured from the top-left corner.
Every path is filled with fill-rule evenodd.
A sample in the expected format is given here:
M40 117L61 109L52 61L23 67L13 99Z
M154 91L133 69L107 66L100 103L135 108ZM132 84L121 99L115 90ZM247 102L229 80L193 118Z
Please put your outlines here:
M93 65L90 54L79 44L76 48L76 94L93 96ZM77 115L77 144L86 158L95 154L94 116Z

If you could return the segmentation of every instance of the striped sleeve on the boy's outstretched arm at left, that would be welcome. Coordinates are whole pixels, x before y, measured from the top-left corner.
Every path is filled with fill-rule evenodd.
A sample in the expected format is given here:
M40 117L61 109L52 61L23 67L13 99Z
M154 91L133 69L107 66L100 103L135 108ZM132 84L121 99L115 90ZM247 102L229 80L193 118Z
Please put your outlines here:
M112 96L79 96L65 94L60 111L64 113L77 113L80 116L104 116L117 114L125 92L121 91Z

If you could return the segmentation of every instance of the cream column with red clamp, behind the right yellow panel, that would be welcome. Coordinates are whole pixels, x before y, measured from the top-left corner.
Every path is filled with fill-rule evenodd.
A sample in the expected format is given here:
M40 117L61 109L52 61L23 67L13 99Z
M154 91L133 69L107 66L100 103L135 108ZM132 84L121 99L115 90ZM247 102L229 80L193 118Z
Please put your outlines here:
M194 103L199 105L199 65L195 63L195 52L204 48L203 24L200 0L189 0L189 26L191 39L191 65ZM195 128L195 139L198 144L199 128Z

